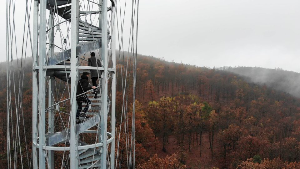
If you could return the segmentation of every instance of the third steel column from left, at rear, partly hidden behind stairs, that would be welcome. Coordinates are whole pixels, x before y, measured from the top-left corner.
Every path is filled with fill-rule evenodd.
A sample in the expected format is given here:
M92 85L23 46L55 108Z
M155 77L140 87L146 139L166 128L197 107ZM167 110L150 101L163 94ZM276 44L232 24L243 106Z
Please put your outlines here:
M49 33L49 57L54 55L54 13L50 11L49 17L49 28L51 28ZM49 84L48 84L48 107L54 104L53 98L53 91L54 91L54 77L49 76ZM54 132L54 112L53 110L48 111L48 126L49 126L49 133ZM51 169L54 168L54 151L48 150L48 162Z

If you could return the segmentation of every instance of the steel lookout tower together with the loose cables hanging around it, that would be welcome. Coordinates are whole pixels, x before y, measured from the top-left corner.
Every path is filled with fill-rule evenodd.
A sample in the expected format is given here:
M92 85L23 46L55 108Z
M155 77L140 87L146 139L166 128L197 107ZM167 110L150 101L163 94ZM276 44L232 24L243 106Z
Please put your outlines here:
M6 2L7 168L135 168L139 1ZM101 66L88 66L91 52ZM91 103L76 119L91 70L98 92L84 93Z

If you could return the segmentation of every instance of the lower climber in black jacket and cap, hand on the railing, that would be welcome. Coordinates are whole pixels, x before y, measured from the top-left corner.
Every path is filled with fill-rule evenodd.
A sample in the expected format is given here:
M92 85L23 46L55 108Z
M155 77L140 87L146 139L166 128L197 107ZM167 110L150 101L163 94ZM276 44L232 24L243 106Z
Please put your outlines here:
M87 95L84 92L91 89L96 89L96 87L88 86L88 72L83 72L83 74L81 75L81 79L77 84L76 101L78 109L76 111L76 120L79 119L79 115L82 110L82 102L85 102L87 104L83 109L83 113L88 111L88 105L91 104L91 100L88 99Z

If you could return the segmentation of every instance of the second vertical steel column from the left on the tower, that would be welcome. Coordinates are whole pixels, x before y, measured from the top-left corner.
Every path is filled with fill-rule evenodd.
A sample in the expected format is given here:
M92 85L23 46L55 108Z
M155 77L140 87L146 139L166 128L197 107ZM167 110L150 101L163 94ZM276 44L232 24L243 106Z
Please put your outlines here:
M46 57L46 4L47 0L40 0L40 27L39 27L39 77L38 77L38 115L39 115L39 131L38 131L38 154L39 154L39 168L45 168L45 151L43 151L43 146L45 146L45 75L46 72L43 70L43 65L45 63Z

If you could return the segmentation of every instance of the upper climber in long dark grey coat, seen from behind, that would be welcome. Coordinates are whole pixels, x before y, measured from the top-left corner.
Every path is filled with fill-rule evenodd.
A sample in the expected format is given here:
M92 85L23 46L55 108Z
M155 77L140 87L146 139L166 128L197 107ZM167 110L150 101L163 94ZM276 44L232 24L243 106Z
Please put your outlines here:
M95 56L95 52L92 52L91 57L88 58L88 66L102 67L100 59L97 59ZM99 77L101 77L101 71L91 69L91 79L92 79L93 86L98 86L97 80ZM97 90L94 89L94 94L95 94L94 98L97 98L96 93L97 93Z

